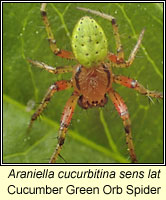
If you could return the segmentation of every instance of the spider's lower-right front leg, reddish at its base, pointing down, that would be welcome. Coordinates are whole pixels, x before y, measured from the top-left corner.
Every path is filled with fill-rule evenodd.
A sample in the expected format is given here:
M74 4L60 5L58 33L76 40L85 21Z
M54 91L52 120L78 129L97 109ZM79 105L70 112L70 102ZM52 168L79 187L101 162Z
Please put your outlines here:
M112 102L114 103L116 110L118 111L121 119L123 120L123 125L124 125L124 129L125 129L125 133L126 133L126 144L128 145L130 158L133 163L136 163L137 158L136 158L136 154L134 151L134 145L133 145L132 134L131 134L131 122L130 122L127 106L124 103L121 96L114 90L110 90L108 92L108 95L110 96Z

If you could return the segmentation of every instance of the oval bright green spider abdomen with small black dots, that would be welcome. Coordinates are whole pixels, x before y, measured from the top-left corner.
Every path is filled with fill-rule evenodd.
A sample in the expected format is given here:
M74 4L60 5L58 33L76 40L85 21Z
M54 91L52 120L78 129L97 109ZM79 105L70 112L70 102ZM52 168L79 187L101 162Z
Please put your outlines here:
M107 39L103 29L91 17L82 17L72 35L75 58L85 67L97 65L107 56Z

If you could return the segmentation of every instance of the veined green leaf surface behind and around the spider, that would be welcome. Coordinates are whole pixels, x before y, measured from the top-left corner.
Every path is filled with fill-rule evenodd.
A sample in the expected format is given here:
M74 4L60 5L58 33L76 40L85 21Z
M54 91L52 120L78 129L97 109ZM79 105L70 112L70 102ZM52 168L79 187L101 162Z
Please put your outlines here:
M76 7L87 7L111 14L117 19L127 59L145 27L137 57L128 69L113 69L137 79L151 90L163 90L163 8L158 3L51 3L48 17L61 49L71 50L74 25L84 15ZM91 15L104 29L109 50L116 52L111 23ZM3 161L4 163L48 163L57 144L61 113L72 89L56 93L41 120L26 134L31 115L55 81L71 74L53 75L31 66L27 58L51 66L75 62L51 52L40 16L39 3L3 3ZM163 106L131 89L113 87L124 98L131 117L135 151L140 163L163 162ZM35 107L33 104L35 103ZM31 110L33 109L33 110ZM29 112L29 110L31 110ZM122 121L112 102L102 108L76 107L61 152L68 163L130 162ZM64 163L62 158L58 162Z

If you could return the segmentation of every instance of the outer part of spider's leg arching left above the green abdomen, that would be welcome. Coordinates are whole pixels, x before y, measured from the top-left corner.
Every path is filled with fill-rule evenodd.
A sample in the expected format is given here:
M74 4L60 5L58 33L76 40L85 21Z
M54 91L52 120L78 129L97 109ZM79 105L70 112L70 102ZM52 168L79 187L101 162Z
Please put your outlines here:
M124 52L123 52L123 47L121 45L121 41L120 41L120 35L119 35L119 31L118 31L118 25L116 24L116 20L113 16L111 15L107 15L105 13L96 11L96 10L91 10L89 8L80 8L77 7L79 10L83 10L95 15L98 15L102 18L108 19L109 21L111 21L112 27L113 27L113 33L114 33L114 37L115 37L115 42L116 42L116 49L117 49L117 56L116 59L117 60L124 60Z

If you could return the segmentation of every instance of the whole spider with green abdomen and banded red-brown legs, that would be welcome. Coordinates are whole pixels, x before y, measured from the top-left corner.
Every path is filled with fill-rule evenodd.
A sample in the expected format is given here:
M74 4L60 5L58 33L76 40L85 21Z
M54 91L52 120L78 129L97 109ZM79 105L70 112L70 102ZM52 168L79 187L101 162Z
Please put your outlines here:
M78 9L101 16L102 18L110 21L115 37L117 54L115 55L108 51L107 38L103 29L92 17L89 16L82 17L75 25L71 41L73 51L70 52L59 49L56 45L56 40L54 39L54 35L47 18L46 3L42 3L40 11L52 52L61 58L73 59L77 62L77 64L75 66L54 68L43 62L29 60L29 62L36 67L53 74L72 72L72 78L71 80L57 81L49 87L47 93L41 101L41 104L32 115L28 129L32 127L33 122L41 115L55 92L73 87L74 91L68 99L61 117L58 132L58 143L49 161L49 163L56 163L58 156L60 156L60 151L64 144L66 132L71 122L76 104L78 103L78 105L83 109L103 107L107 103L109 97L123 121L126 144L128 146L131 162L136 163L138 161L132 140L131 122L128 108L121 96L113 89L112 83L132 88L149 98L163 98L163 94L155 91L149 91L137 82L137 80L113 74L112 67L127 68L133 63L136 53L140 47L145 29L141 31L134 49L132 50L128 60L125 61L116 19L113 16L99 11L87 8Z

